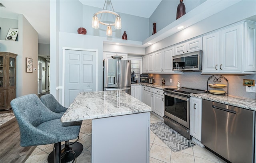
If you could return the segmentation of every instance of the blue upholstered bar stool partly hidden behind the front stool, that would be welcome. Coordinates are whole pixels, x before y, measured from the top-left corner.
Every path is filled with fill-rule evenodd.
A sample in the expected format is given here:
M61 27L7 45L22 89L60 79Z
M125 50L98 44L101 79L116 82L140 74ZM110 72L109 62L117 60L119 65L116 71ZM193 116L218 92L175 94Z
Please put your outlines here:
M48 109L52 110L53 112L56 112L56 113L60 114L61 116L68 109L68 108L65 108L64 106L62 106L56 100L56 98L54 98L54 96L52 94L45 94L45 95L40 97L40 100L43 102L43 104ZM82 121L78 121L78 123L80 124L80 126L82 125ZM75 142L71 142L71 143L69 143L69 141L65 141L65 144L63 144L61 146L61 153L64 153L65 151L72 150L72 151L74 151L76 153L76 157L78 157L82 153L82 151L83 151L83 145L81 143L79 143L79 142L76 142L76 141ZM53 161L54 161L53 158L54 158L54 151L52 151L49 154L48 162L49 163L53 163ZM72 153L67 153L66 155L64 155L64 157L62 157L61 161L62 161L62 163L66 163L66 162L72 161L72 159L73 159Z

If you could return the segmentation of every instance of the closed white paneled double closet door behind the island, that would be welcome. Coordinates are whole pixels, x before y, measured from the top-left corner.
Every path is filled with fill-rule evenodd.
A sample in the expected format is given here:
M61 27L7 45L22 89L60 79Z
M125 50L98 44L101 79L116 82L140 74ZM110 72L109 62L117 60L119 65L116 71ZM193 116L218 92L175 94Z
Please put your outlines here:
M96 52L65 50L64 106L79 92L96 91Z

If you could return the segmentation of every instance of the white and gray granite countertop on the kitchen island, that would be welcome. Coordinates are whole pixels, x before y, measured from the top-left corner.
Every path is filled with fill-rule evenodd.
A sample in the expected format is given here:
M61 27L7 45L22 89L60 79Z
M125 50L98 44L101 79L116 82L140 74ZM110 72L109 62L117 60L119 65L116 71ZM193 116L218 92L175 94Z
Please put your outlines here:
M105 118L150 112L152 108L122 90L81 92L61 118L61 122Z

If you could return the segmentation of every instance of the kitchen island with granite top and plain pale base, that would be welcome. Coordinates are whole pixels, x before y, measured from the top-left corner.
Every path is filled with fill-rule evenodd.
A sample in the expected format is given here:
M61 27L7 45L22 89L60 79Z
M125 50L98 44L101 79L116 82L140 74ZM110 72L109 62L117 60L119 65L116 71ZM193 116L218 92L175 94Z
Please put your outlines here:
M151 110L122 90L82 92L61 122L92 119L92 163L148 163Z

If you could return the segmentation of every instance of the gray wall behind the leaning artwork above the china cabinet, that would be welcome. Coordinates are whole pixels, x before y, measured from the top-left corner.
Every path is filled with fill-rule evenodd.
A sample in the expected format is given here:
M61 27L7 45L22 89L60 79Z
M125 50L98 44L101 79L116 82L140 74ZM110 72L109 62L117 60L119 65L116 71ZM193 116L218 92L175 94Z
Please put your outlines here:
M0 18L0 40L5 40L10 28L18 28L18 20ZM18 38L17 38L18 41Z

